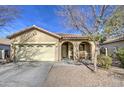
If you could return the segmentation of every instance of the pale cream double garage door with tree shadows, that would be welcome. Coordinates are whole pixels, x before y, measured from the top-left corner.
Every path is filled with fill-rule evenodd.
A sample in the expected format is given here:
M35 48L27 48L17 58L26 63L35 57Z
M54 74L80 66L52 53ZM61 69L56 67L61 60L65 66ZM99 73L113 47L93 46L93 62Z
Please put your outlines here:
M17 55L20 60L55 61L55 45L24 45Z

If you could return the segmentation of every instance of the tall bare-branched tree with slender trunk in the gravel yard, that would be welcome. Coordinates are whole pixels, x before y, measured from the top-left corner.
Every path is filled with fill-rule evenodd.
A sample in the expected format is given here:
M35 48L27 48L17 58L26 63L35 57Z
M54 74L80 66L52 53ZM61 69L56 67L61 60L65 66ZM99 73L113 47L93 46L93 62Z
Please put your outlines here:
M87 35L95 45L93 55L94 71L97 71L97 53L99 36L104 31L107 20L112 16L116 6L62 6L59 15L66 25Z

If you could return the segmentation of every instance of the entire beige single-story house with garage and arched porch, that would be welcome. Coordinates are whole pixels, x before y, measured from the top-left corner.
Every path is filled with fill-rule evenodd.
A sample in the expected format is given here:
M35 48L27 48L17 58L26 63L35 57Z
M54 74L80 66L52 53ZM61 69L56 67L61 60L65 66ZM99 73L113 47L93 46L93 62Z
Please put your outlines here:
M79 34L55 34L37 26L26 28L8 38L13 58L18 61L61 61L92 59L94 44Z

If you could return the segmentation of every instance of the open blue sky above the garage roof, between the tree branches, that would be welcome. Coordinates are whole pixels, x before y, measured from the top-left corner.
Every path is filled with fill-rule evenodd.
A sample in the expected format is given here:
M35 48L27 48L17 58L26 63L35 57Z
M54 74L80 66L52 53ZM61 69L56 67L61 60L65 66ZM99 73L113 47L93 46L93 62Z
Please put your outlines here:
M0 29L1 38L32 25L36 25L56 33L75 33L75 31L65 28L62 24L62 19L57 15L58 6L27 5L18 7L21 9L21 17L14 20L8 26Z

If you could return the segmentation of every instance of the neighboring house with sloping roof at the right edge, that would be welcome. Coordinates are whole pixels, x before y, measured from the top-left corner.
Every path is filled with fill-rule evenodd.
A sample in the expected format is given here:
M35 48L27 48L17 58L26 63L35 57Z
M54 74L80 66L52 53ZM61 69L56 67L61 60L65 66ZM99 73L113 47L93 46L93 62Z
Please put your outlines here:
M108 55L114 55L119 48L124 47L124 36L108 39L101 44L101 47L106 48Z

